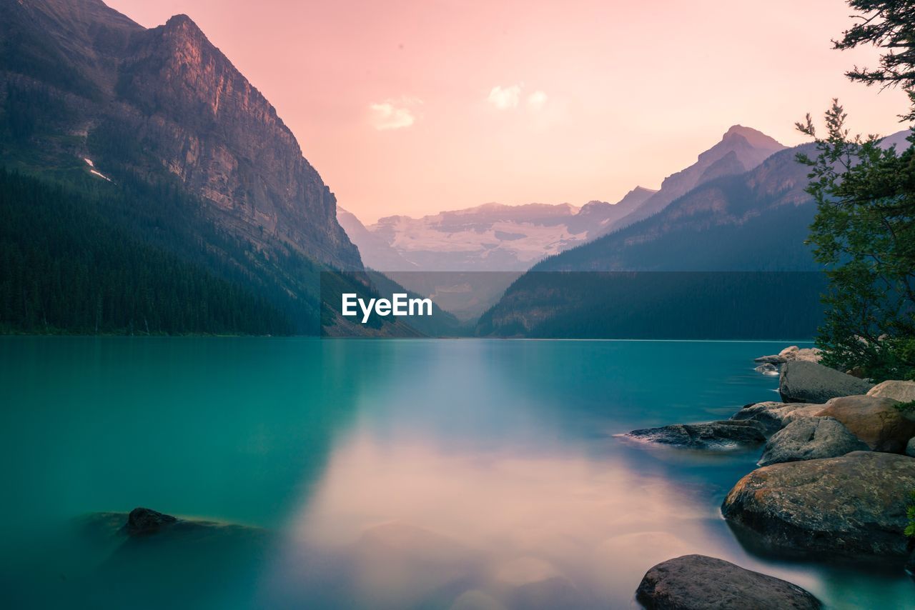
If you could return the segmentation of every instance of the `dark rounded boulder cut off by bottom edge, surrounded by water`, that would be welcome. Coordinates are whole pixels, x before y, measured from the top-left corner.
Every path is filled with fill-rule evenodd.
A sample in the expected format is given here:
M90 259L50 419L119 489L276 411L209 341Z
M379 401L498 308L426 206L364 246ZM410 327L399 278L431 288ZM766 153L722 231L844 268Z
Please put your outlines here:
M650 610L822 607L796 584L705 555L684 555L657 564L641 579L636 599Z

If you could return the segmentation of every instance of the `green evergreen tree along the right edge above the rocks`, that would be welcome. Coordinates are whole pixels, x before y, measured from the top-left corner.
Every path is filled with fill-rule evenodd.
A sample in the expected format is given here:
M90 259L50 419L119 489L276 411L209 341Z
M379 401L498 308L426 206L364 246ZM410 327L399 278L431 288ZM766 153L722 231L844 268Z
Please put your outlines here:
M883 48L875 69L848 78L899 86L915 119L915 2L850 0L858 22L835 48ZM838 101L825 113L825 137L808 114L798 129L814 138L819 155L807 191L817 202L810 241L827 267L826 319L818 342L825 361L875 380L915 376L915 151L882 148L876 136L850 136ZM915 134L909 138L915 143Z

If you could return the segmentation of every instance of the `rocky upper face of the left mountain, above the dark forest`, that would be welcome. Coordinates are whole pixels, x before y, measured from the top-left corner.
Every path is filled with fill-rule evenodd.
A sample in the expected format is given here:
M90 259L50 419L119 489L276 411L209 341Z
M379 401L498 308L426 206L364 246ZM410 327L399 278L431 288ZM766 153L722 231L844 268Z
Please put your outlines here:
M177 180L268 258L361 267L295 136L188 16L145 29L97 0L0 11L7 166L100 185Z

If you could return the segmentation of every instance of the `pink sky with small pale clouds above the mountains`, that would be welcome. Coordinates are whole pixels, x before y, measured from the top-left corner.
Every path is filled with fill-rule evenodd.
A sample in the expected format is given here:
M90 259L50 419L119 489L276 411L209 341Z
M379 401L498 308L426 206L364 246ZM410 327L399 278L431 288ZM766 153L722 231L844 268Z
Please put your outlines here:
M889 134L900 91L849 83L841 0L109 0L185 13L264 92L339 205L365 222L489 201L616 201L740 123L800 144L838 96Z

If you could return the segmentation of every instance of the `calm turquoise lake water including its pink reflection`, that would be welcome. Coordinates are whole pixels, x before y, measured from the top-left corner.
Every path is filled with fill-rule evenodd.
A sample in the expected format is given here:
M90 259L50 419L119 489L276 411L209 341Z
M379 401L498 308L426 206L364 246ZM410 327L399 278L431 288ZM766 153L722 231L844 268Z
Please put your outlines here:
M782 347L3 337L0 605L626 608L700 552L906 607L902 573L737 543L718 506L756 453L614 436L776 399L752 359ZM137 506L252 529L123 544L74 521Z

